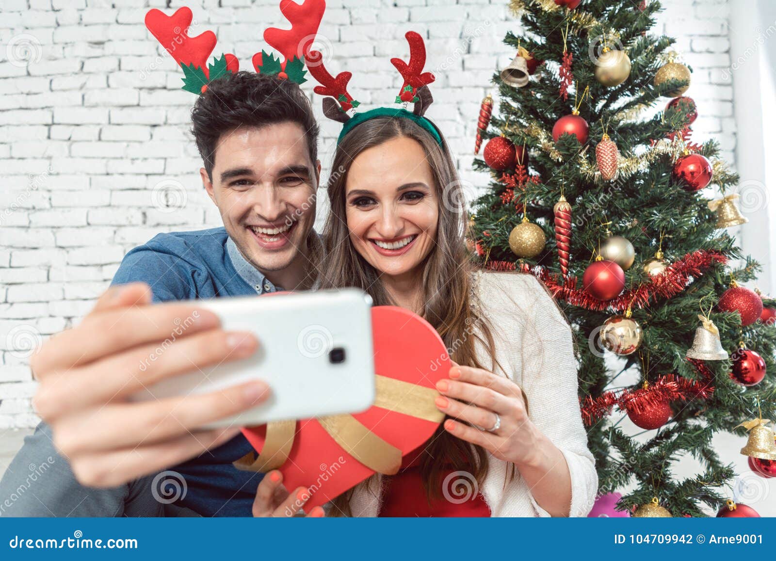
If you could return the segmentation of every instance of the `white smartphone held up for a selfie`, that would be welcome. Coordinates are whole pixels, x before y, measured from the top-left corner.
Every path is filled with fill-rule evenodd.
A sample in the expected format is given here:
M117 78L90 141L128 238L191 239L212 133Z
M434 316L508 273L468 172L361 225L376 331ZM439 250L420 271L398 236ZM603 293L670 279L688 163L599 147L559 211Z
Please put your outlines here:
M359 289L200 300L223 329L252 331L258 351L248 358L161 380L133 400L207 393L251 379L272 396L241 414L203 428L359 413L375 400L372 298Z

